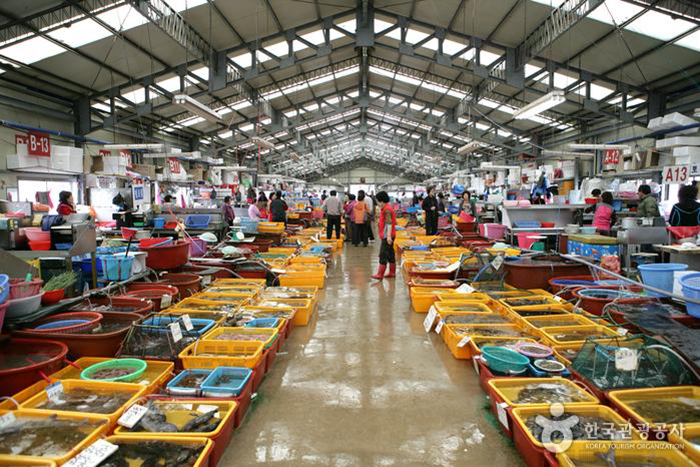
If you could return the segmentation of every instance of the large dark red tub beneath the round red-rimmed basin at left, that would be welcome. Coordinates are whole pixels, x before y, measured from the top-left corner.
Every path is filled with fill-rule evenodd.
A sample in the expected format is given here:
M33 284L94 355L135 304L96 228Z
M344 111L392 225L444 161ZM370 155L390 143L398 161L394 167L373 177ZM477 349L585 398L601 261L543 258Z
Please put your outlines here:
M102 357L112 358L117 355L122 341L131 328L131 324L143 319L143 316L136 313L120 313L103 311L101 325L104 323L115 323L124 321L124 327L112 332L86 332L79 334L50 334L44 332L33 332L32 330L17 331L17 337L29 339L50 339L62 342L68 346L68 353L72 360L82 357ZM104 328L102 328L104 329Z

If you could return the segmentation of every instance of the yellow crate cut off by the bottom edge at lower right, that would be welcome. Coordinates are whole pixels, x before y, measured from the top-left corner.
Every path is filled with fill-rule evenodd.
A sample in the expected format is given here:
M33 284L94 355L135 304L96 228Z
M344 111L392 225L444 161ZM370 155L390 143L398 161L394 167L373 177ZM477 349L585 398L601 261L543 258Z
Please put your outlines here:
M697 464L677 449L662 441L574 441L566 452L556 455L560 467L603 465L599 455L614 447L617 465L658 465L663 467L693 467ZM623 445L624 444L624 445Z

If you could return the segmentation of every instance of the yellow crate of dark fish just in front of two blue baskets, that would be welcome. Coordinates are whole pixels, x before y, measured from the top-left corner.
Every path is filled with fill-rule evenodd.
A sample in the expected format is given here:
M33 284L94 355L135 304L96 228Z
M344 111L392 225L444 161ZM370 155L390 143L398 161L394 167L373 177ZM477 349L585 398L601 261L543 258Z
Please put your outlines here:
M145 400L138 401L137 404L139 405L146 405L147 402ZM197 437L197 438L216 438L219 436L219 434L224 430L224 427L226 427L229 423L233 423L233 420L231 420L231 417L233 417L234 412L238 408L238 404L234 401L220 401L220 400L211 400L208 398L199 398L199 399L180 399L180 400L153 400L150 401L154 407L158 408L163 407L164 409L167 408L168 410L161 409L161 412L165 415L165 421L167 423L172 423L179 429L181 429L187 422L197 418L198 416L211 412L213 407L216 407L219 409L219 425L216 427L214 431L206 431L206 432L187 432L187 431L179 431L176 433L170 433L170 432L163 432L161 435L161 439L163 439L163 436L166 436L168 438L179 438L179 439L189 439L192 437ZM178 407L179 406L179 407ZM181 408L180 408L181 407ZM200 411L200 407L202 410ZM140 438L144 434L147 434L148 436L154 436L157 435L157 433L143 433L142 431L132 431L129 428L123 427L123 426L117 426L117 428L114 430L115 435L120 435L120 436L125 436L125 437L131 437L131 438Z

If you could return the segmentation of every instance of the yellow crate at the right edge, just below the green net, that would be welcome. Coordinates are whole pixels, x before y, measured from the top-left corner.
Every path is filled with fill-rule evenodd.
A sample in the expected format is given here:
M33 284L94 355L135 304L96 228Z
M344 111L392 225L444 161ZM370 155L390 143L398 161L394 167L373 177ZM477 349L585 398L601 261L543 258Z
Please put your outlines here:
M700 386L675 386L649 389L621 389L608 393L610 400L623 412L628 412L633 417L647 424L650 428L669 429L673 423L669 420L652 420L642 416L630 404L643 401L673 401L678 398L693 399L700 403ZM680 421L683 428L700 427L700 422L686 423Z

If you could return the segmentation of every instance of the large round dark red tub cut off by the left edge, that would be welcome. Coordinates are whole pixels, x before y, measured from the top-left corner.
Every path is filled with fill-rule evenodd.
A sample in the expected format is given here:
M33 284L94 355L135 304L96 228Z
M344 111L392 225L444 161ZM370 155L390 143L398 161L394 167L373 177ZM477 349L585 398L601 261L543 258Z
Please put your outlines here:
M11 338L0 343L0 396L13 396L63 367L62 342Z

